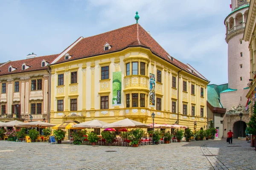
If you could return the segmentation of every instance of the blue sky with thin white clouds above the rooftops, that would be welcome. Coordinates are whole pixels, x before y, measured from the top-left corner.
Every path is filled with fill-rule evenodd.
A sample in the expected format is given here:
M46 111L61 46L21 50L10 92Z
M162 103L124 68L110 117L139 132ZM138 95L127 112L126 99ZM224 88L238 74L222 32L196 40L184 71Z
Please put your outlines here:
M210 84L227 83L231 0L0 0L0 63L58 54L79 37L136 23Z

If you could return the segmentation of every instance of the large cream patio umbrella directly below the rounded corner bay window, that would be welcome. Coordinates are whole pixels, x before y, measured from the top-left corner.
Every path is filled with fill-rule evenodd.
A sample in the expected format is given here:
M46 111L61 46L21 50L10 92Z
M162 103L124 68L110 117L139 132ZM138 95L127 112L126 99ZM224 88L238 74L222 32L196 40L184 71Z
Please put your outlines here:
M128 128L134 128L134 127L150 128L151 126L126 118L126 119L122 119L117 122L113 122L108 125L105 125L102 128L115 128L115 127L116 128L125 127L126 129L128 129Z

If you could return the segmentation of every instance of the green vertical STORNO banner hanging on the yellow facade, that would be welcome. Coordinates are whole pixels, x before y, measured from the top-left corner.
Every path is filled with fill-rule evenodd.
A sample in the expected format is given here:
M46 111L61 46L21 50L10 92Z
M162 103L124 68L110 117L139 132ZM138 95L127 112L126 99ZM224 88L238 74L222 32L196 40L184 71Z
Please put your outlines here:
M113 99L112 106L121 105L122 72L113 72Z

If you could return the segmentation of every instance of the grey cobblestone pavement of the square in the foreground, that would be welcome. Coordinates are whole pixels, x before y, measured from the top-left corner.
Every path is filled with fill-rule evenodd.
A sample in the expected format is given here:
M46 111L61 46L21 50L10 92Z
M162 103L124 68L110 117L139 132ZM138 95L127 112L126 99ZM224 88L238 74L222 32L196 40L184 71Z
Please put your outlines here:
M139 147L0 141L4 170L253 170L255 158L254 148L236 139Z

